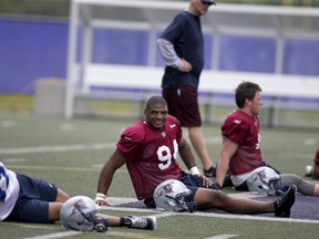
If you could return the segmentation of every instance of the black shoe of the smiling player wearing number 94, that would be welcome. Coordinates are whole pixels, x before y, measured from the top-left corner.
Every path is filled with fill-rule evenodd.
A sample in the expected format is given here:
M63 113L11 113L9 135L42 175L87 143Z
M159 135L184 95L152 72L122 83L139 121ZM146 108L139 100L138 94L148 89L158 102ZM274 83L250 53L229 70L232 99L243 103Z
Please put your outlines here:
M278 198L275 204L275 216L276 217L290 217L290 209L295 204L297 186L291 185L289 189Z

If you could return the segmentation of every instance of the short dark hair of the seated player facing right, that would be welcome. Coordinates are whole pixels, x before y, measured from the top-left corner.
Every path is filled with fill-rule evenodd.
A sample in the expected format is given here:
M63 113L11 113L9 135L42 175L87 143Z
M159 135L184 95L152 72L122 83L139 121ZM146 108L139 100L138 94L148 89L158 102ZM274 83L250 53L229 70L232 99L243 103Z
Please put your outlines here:
M239 108L243 108L245 106L245 101L246 98L249 101L253 101L256 92L261 92L261 87L253 82L241 82L237 89L235 90L235 101L236 101L236 105Z

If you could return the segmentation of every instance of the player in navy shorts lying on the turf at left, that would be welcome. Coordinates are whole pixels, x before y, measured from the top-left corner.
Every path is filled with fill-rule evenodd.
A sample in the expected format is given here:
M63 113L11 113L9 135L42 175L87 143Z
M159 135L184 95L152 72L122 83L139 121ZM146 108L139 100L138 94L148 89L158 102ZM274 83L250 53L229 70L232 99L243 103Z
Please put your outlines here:
M51 224L60 220L61 207L68 199L69 195L53 184L12 172L0 162L0 221ZM89 200L85 202L90 205ZM154 229L156 226L154 217L114 217L95 214L96 210L92 207L89 212L94 212L94 217L106 218L110 227Z

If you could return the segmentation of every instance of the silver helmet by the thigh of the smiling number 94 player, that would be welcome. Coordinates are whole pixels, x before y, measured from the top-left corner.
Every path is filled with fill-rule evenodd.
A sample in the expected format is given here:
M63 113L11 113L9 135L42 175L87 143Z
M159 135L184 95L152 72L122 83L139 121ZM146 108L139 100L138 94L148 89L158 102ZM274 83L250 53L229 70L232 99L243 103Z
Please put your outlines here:
M182 181L167 179L155 188L153 198L157 210L194 212L196 202L185 201L191 194L192 191Z

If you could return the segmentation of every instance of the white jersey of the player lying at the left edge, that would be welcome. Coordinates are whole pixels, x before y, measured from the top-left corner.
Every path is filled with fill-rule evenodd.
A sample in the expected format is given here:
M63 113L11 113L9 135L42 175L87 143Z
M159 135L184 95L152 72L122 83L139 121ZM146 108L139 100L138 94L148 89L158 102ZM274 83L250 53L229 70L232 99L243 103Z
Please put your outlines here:
M0 221L12 211L18 200L20 185L14 172L9 170L0 162Z

